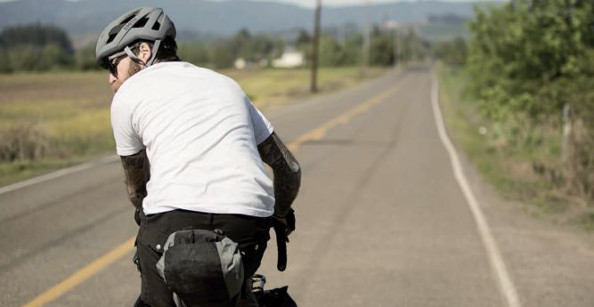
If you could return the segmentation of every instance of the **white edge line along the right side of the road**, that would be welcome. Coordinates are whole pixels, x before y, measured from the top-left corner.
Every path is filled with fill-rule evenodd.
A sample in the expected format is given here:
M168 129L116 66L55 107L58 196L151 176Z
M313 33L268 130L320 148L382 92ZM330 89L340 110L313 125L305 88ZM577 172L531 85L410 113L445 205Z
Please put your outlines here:
M502 295L505 297L505 300L507 301L507 306L521 307L520 299L516 292L516 288L510 278L505 263L503 262L501 253L497 248L495 239L491 234L489 224L485 219L485 216L476 200L476 197L474 196L474 193L470 189L470 185L468 184L468 181L466 180L466 177L462 172L462 167L460 166L460 158L458 157L458 154L454 149L454 145L452 145L452 141L446 133L445 125L442 119L441 109L439 107L438 102L439 83L434 71L431 74L431 81L431 105L433 106L433 114L435 116L435 121L437 123L439 138L441 139L441 142L443 143L446 150L448 151L448 154L450 155L450 162L452 163L452 168L454 170L456 181L462 189L464 197L466 198L468 206L470 207L470 211L472 212L472 215L476 222L479 234L483 241L483 245L487 250L491 268L497 276L500 291L502 292Z

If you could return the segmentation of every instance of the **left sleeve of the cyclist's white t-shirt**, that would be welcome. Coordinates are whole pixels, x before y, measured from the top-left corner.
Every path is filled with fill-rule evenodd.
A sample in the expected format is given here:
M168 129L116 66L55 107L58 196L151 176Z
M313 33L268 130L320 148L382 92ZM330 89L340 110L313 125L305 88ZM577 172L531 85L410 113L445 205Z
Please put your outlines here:
M130 156L144 149L140 136L134 130L130 107L115 98L111 103L111 127L118 155Z

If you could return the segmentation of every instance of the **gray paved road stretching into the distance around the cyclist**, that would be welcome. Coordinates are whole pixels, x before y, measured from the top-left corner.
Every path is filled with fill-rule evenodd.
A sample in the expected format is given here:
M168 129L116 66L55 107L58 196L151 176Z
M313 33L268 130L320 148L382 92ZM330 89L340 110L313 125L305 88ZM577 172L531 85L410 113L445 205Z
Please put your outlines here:
M528 216L460 155L477 222L434 85L409 69L266 112L303 169L289 267L272 240L269 285L299 306L594 306L592 235ZM0 306L132 305L137 228L119 162L96 164L0 193Z

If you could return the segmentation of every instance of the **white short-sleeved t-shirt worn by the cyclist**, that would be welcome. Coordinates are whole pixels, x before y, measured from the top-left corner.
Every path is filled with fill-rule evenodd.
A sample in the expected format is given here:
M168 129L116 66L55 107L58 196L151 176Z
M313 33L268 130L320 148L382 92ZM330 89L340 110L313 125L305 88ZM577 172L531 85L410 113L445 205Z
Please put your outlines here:
M274 212L257 149L273 128L232 79L186 62L154 64L122 84L111 123L120 156L146 148L145 214Z

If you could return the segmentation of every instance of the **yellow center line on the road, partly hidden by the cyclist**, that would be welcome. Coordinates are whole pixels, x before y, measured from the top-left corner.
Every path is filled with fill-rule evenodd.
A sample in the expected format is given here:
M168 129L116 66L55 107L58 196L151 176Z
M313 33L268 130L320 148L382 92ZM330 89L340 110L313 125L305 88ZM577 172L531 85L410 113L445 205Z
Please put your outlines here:
M354 108L343 113L342 115L330 120L329 122L326 122L325 124L319 126L316 129L313 129L303 134L302 136L298 137L295 141L289 143L288 148L292 152L297 152L299 147L301 147L301 145L303 145L304 143L323 139L330 129L333 129L339 125L345 125L349 123L355 116L367 112L373 106L383 102L386 98L388 98L388 96L393 94L397 88L398 87L394 87L391 89L384 90L380 94L355 106ZM118 261L120 258L124 257L126 254L131 252L134 249L135 239L136 237L130 238L128 241L122 243L121 245L117 246L105 255L89 263L84 268L78 270L74 274L62 280L57 285L51 287L44 293L34 298L32 301L26 303L24 307L43 306L51 301L54 301L66 292L74 289L78 285L85 282L87 279L99 273L105 267Z

